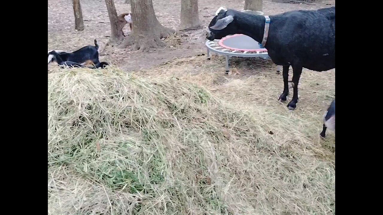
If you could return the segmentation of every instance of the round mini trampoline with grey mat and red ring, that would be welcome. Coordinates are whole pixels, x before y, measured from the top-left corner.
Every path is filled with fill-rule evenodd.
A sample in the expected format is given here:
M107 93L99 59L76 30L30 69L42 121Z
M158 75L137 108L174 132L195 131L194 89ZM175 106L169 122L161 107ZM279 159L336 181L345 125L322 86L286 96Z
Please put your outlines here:
M208 57L210 52L225 55L225 70L229 72L229 57L262 57L268 58L267 49L260 47L259 42L244 34L234 34L214 41L206 41ZM277 66L277 74L280 73L280 66Z

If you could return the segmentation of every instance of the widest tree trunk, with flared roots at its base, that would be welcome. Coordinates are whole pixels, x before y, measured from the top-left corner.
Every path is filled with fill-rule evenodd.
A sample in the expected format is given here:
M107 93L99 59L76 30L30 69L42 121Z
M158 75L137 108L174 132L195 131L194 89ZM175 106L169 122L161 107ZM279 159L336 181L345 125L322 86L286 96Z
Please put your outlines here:
M120 47L134 44L134 49L145 50L149 47L164 46L161 38L168 37L175 31L165 28L159 23L154 14L152 0L131 0L133 33L129 35Z

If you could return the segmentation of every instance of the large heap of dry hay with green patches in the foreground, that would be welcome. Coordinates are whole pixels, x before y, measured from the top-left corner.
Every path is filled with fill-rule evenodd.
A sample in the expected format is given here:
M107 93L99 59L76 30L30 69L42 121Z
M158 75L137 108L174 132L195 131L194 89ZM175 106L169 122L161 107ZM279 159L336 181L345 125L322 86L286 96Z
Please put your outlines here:
M335 213L333 165L261 125L178 78L51 73L48 214Z

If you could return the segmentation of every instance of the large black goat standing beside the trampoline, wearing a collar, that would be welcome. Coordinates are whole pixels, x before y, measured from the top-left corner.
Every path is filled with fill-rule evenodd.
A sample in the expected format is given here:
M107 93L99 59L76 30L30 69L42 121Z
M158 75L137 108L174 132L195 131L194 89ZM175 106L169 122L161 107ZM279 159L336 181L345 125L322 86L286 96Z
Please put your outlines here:
M287 105L290 110L298 102L303 67L318 72L335 68L335 7L288 11L269 18L219 8L206 38L221 39L231 34L245 34L262 42L272 61L283 66L281 101L286 101L289 94L288 70L293 67L293 99Z

